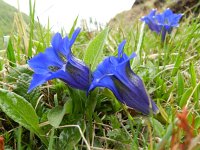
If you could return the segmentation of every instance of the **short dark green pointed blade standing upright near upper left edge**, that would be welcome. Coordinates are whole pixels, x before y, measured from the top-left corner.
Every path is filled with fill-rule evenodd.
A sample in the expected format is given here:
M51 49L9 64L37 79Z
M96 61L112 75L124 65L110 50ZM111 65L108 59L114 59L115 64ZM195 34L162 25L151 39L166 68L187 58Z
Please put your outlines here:
M14 54L14 49L13 49L11 39L9 39L9 42L8 42L7 58L10 61L9 62L10 66L15 67L16 59L15 59L15 54Z

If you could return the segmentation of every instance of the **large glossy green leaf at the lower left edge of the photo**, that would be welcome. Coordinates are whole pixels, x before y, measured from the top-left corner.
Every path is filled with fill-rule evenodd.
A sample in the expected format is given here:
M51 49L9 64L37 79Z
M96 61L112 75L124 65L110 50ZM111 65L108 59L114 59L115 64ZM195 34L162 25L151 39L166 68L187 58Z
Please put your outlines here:
M0 108L11 119L35 133L45 145L48 145L47 139L39 128L38 116L34 108L23 97L0 89Z

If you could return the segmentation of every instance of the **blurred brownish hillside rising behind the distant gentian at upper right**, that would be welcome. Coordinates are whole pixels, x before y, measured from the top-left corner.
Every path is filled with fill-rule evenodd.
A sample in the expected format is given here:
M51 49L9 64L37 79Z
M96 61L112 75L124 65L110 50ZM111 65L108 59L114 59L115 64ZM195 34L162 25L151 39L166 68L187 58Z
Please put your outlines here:
M196 16L200 13L200 1L199 0L136 0L136 3L128 11L117 14L111 19L108 25L111 28L130 28L134 23L147 15L152 8L157 8L159 11L165 8L170 8L175 13L184 13L185 16L194 14Z

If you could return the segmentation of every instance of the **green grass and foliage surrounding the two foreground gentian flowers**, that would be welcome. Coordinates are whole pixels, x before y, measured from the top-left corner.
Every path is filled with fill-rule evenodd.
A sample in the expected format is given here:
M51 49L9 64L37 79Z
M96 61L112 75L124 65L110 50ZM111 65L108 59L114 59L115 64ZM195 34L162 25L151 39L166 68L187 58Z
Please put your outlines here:
M34 26L35 6L30 3L30 7L29 36L11 34L8 49L1 51L0 134L6 148L199 148L200 16L183 17L164 43L139 21L129 29L119 27L119 31L82 30L76 40L73 53L93 69L104 57L116 55L118 44L127 40L125 52L137 53L132 69L143 79L160 111L143 116L120 104L107 89L96 89L87 97L53 80L27 94L32 71L26 62L44 51L52 36L50 25L47 29Z

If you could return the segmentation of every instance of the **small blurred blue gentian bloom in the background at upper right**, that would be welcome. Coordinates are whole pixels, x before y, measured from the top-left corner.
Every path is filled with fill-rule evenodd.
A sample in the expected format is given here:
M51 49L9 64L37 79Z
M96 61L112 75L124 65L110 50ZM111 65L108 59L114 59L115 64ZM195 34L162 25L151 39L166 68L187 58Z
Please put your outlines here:
M179 21L183 14L174 14L169 8L161 14L156 14L156 9L141 18L152 31L162 34L162 41L165 40L166 33L171 33L173 27L179 26Z

